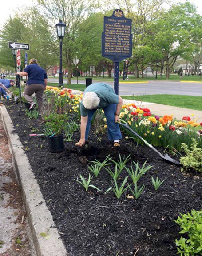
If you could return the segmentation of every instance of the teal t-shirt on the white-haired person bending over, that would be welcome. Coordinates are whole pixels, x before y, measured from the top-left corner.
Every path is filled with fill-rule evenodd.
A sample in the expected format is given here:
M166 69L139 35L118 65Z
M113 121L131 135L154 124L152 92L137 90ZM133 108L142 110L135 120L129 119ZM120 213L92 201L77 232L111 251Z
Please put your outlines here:
M97 108L107 107L111 103L114 103L114 104L119 103L119 96L115 94L114 89L108 84L104 84L104 83L91 84L84 90L84 94L86 92L95 92L97 96L99 96L100 102ZM81 104L80 104L81 116L88 116L88 112L90 110L86 109L83 106L82 101L83 100L81 100Z

